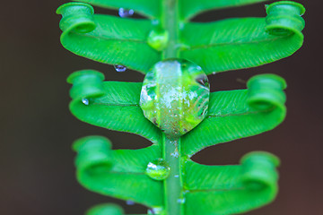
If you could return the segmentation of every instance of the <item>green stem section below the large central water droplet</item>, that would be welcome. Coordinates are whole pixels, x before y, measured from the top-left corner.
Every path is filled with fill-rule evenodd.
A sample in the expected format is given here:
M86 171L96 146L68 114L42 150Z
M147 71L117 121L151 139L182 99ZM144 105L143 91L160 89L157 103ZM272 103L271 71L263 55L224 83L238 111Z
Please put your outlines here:
M170 165L170 176L164 181L164 202L167 215L184 214L184 196L180 156L180 138L163 135L163 159Z

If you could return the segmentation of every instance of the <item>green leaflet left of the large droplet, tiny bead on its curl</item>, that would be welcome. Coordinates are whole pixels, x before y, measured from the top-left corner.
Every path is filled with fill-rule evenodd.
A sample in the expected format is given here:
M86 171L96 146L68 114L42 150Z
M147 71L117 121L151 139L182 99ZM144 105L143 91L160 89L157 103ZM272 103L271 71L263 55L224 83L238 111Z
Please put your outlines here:
M142 83L102 82L103 78L102 73L95 71L70 75L67 81L74 84L70 104L74 116L92 125L137 133L158 142L162 132L144 117L139 107Z

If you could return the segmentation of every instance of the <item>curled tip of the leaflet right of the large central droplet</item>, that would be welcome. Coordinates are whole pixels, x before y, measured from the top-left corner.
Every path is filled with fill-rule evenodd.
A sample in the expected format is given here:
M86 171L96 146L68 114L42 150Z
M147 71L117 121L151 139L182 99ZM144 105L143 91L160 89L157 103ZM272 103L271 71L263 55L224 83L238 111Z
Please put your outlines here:
M282 107L286 101L284 79L275 74L260 74L252 77L247 83L248 104L257 109Z

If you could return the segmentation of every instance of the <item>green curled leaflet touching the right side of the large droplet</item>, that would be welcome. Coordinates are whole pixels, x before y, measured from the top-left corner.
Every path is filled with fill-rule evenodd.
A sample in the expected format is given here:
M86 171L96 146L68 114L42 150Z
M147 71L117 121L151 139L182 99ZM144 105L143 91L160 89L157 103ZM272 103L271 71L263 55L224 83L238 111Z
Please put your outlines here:
M207 146L263 133L284 120L284 79L265 74L248 84L249 90L211 94L208 116L182 138L183 153L192 156Z

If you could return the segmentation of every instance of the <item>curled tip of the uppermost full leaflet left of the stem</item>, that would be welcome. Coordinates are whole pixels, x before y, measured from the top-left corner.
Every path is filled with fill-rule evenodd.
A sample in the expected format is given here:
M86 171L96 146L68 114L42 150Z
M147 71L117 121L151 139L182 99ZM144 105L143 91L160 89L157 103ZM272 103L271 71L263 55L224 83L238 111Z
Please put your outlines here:
M59 28L63 31L88 33L95 30L94 9L90 4L67 3L57 8L57 14L63 16Z

